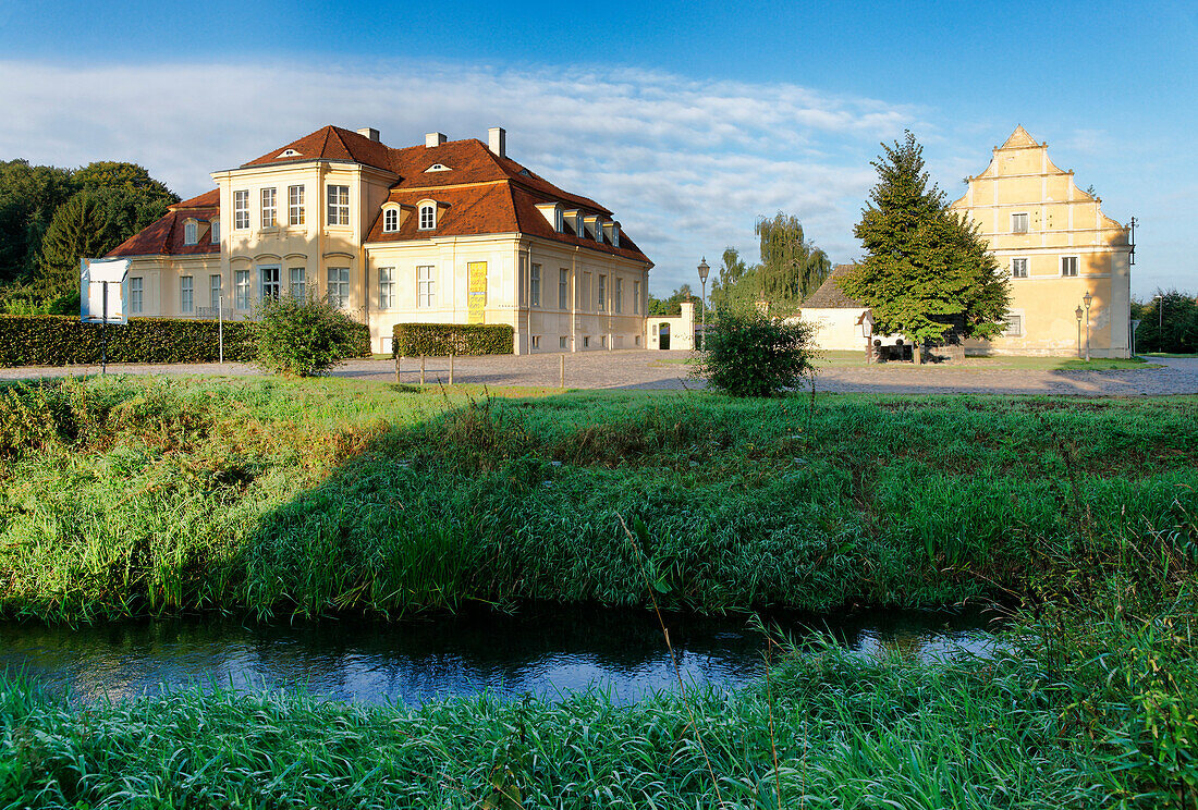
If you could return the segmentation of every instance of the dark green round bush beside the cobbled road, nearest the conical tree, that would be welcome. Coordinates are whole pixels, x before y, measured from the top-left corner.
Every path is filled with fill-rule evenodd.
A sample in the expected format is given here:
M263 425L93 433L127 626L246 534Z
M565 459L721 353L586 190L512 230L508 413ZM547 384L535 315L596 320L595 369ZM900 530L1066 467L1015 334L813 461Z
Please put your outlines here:
M721 312L692 375L733 397L775 397L815 376L813 334L803 321Z

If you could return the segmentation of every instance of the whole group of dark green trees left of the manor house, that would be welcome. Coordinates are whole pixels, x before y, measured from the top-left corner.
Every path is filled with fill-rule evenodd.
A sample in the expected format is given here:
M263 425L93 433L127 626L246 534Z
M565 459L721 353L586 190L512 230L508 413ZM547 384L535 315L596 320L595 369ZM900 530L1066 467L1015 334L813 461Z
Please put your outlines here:
M0 161L0 312L75 314L79 256L102 256L179 202L135 163Z

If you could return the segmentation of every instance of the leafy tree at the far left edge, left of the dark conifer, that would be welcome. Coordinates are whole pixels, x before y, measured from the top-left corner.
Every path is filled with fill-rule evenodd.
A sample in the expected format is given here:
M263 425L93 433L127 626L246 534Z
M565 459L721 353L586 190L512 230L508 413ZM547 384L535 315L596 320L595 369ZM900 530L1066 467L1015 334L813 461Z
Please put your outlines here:
M0 286L34 278L54 212L77 189L67 169L0 162Z

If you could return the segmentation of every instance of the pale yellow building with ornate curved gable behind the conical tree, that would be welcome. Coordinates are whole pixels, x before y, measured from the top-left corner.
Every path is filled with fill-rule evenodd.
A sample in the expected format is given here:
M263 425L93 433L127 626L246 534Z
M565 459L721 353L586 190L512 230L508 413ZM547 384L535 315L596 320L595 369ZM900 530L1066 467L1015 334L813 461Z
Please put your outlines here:
M1101 198L1079 189L1071 170L1048 159L1048 144L1037 144L1022 126L994 149L986 170L966 182L968 191L952 207L979 223L1011 280L1006 332L990 343L967 343L966 350L1083 355L1089 294L1091 356L1127 357L1130 228L1103 214Z

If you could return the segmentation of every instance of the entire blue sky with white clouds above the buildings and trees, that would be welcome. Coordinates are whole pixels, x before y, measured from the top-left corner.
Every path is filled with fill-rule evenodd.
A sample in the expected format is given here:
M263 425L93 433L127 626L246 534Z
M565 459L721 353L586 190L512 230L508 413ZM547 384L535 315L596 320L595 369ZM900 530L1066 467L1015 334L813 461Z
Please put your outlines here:
M912 128L955 198L1022 123L1139 219L1143 297L1198 290L1196 42L1182 2L0 0L0 158L133 159L186 197L325 123L393 146L504 126L616 212L664 295L703 254L755 256L779 210L853 259L881 140Z

